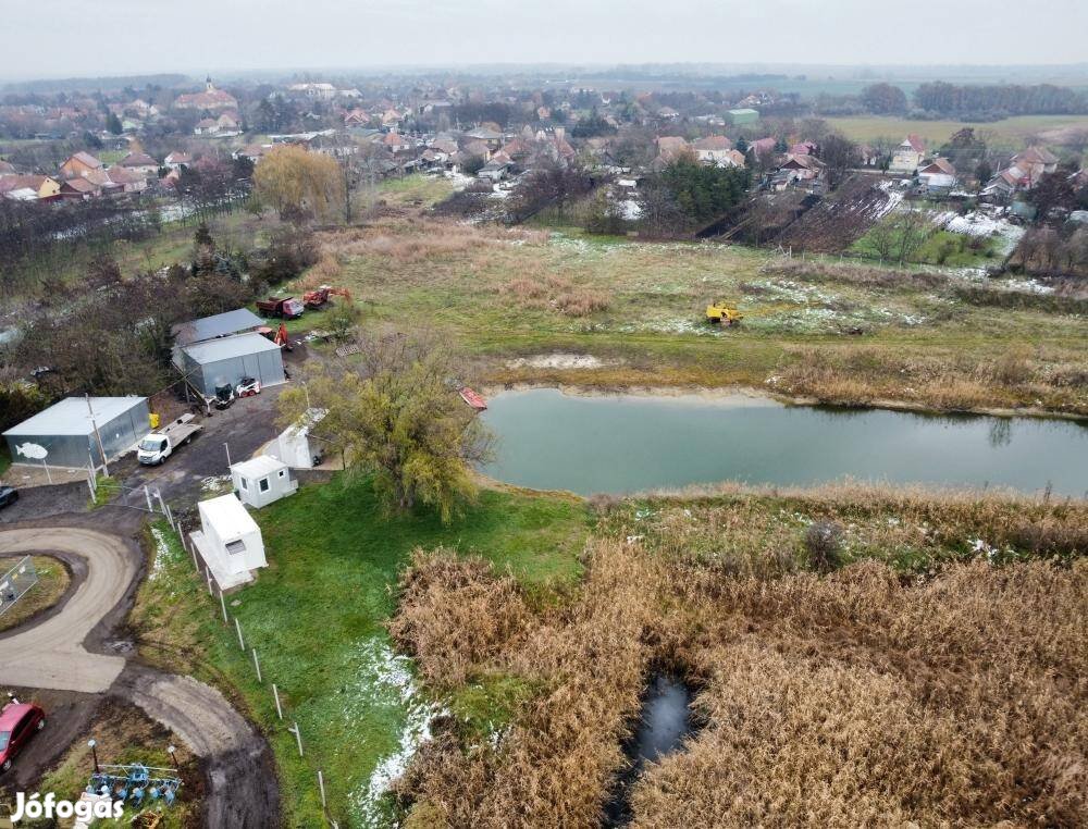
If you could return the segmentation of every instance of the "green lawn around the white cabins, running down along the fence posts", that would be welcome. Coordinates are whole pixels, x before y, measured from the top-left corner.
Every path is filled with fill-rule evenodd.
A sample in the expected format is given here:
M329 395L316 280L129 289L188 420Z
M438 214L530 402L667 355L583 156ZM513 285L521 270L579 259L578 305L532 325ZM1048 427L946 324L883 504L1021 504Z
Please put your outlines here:
M493 490L483 491L479 504L448 527L431 515L388 517L368 480L345 484L342 478L304 486L256 517L269 567L256 584L230 596L228 607L258 649L263 685L169 528L156 528L158 559L132 621L149 658L177 670L178 648L184 649L185 661L191 660L186 667L197 676L237 689L244 707L270 734L292 827L325 825L318 768L341 826L371 825L384 808L370 792L379 764L395 762L425 712L446 704L410 693L410 666L392 652L384 628L411 550L446 546L481 555L547 594L549 585L579 577L590 525L580 502ZM276 718L270 682L299 722L305 762ZM494 689L495 706L502 707L507 691ZM481 708L492 707L487 692L484 697L454 707L480 716Z

